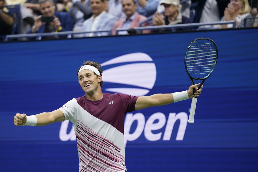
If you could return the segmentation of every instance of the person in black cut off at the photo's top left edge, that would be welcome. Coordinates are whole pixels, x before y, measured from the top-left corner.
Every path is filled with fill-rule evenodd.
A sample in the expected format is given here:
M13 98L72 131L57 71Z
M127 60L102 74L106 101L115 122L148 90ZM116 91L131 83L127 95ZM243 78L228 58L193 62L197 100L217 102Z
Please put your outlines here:
M0 35L10 35L12 33L13 24L14 18L5 7L5 0L0 0Z

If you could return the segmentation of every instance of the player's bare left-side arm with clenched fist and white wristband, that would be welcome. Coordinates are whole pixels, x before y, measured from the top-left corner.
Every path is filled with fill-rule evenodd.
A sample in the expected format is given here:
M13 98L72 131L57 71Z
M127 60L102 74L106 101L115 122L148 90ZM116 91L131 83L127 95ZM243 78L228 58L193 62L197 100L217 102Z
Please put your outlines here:
M64 113L59 109L54 110L52 112L43 112L32 116L27 116L26 114L18 113L18 114L15 114L14 116L14 125L43 126L43 125L51 124L53 122L64 121L64 119L65 119Z

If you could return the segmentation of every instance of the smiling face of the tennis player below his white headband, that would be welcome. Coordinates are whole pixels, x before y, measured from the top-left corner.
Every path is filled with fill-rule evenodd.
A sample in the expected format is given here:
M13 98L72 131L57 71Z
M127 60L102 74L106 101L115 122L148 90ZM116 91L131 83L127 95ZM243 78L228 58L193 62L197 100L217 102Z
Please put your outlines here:
M86 94L94 94L98 87L100 87L101 76L97 77L93 71L85 69L80 71L78 75L80 86Z

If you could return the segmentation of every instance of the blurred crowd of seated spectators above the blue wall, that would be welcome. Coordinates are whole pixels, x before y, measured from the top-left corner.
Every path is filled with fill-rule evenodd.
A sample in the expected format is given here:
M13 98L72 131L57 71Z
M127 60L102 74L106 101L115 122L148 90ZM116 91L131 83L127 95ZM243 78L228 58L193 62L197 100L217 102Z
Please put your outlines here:
M0 36L74 31L75 37L126 35L135 27L203 22L236 22L257 27L258 0L0 0ZM19 5L20 18L9 11ZM191 13L191 11L193 13ZM19 23L19 32L14 32ZM232 24L201 26L225 29ZM124 29L117 32L117 29ZM193 30L193 27L174 31ZM97 32L111 30L110 32ZM93 31L93 32L92 32ZM150 33L157 30L143 30ZM159 32L171 31L170 29ZM84 32L84 33L82 33Z

